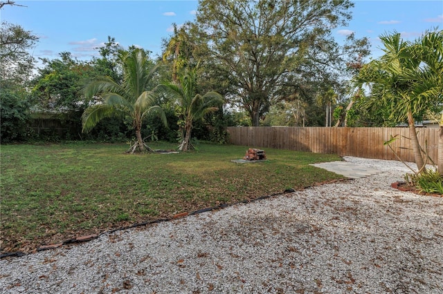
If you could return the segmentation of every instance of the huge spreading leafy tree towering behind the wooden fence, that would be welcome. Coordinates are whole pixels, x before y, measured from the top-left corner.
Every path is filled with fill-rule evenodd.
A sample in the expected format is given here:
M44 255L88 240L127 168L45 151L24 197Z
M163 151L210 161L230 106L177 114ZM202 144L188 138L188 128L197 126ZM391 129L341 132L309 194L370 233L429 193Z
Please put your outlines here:
M307 84L332 84L356 48L368 53L365 41L351 36L354 46L338 46L331 37L332 28L351 19L351 7L350 1L201 0L197 41L206 42L214 74L233 85L231 103L258 126L271 105L307 94Z

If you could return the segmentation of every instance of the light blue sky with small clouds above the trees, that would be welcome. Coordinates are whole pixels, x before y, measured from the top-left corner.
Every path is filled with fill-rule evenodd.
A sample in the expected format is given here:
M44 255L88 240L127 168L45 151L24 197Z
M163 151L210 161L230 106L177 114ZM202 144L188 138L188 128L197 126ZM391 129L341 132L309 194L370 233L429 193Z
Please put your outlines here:
M215 0L217 1L217 0ZM311 1L311 0L309 0ZM4 6L1 21L17 23L37 35L35 57L57 58L69 51L79 59L98 55L111 36L127 48L136 45L161 54L161 39L172 34L172 23L195 19L197 0L145 1L20 1ZM354 1L349 26L333 31L337 40L355 32L368 37L372 57L381 55L379 35L396 30L416 39L427 29L443 29L443 1Z

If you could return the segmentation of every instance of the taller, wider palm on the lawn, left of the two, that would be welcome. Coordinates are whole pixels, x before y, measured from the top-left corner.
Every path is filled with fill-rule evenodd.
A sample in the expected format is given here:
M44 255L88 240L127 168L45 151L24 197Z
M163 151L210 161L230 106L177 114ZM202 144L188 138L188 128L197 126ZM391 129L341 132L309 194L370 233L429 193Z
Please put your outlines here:
M150 112L157 112L166 125L166 117L160 106L155 104L155 94L150 89L156 67L147 57L145 50L119 50L118 62L123 68L123 81L118 84L110 77L100 77L84 86L87 97L99 96L102 103L89 106L82 115L83 132L89 132L105 117L130 117L136 132L136 143L128 152L152 149L141 137L143 119Z

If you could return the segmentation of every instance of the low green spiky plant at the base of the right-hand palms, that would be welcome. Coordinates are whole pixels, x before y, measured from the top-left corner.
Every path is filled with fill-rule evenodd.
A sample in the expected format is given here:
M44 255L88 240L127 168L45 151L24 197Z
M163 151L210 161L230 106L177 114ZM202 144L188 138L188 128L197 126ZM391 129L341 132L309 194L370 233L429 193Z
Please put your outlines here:
M420 192L443 194L443 177L437 170L427 170L420 174L407 173L404 179L406 184L415 186Z

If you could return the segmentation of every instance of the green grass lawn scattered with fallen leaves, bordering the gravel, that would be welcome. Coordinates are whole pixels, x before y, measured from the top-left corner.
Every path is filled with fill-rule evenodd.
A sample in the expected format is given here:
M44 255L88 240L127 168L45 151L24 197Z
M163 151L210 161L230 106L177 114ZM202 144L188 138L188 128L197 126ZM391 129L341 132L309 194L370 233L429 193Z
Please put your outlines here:
M176 145L153 143L154 149ZM1 250L100 233L342 178L309 166L337 155L266 148L269 161L235 164L244 146L199 144L179 154L128 155L125 144L2 145Z

